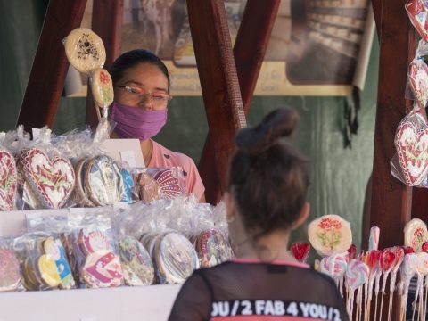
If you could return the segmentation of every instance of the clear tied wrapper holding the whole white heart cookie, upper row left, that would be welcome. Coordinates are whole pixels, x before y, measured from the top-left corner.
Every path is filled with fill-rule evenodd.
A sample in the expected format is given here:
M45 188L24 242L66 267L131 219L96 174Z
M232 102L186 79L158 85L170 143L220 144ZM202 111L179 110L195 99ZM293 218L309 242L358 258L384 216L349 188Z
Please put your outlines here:
M24 201L30 208L37 208L25 199L26 187L43 208L58 209L67 206L75 185L75 173L70 161L53 147L51 131L42 128L35 142L21 152L21 169L25 177Z

